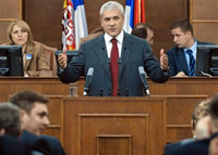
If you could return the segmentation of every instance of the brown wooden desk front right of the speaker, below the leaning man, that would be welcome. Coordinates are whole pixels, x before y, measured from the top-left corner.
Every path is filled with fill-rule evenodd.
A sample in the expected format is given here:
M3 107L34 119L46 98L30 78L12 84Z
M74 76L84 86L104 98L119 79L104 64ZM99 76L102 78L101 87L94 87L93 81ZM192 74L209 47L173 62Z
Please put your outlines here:
M84 79L77 81L78 95L83 95ZM152 95L171 94L204 94L213 95L218 92L218 77L184 77L170 78L165 83L153 82L148 79Z

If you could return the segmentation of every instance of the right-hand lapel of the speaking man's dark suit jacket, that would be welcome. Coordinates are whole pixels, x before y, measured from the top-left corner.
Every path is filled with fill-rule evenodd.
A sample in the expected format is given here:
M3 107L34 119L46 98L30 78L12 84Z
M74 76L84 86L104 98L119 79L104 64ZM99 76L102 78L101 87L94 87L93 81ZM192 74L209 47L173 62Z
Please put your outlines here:
M133 43L133 41L131 41L130 37L124 33L122 51L121 51L121 61L119 64L119 77L121 77L123 68L126 65L126 63L129 62L130 55L133 52L132 43Z

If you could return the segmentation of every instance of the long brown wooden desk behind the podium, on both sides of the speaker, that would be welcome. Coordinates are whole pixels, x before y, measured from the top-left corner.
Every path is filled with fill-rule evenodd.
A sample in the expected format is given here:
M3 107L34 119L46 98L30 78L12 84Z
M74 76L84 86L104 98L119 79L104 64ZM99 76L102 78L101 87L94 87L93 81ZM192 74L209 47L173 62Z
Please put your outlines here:
M148 79L148 85L152 95L213 95L218 92L218 77L170 78L165 83L156 83ZM82 96L84 79L80 79L72 86L77 87L77 94ZM5 102L9 95L26 89L46 95L70 95L70 85L62 83L58 77L0 77L0 102Z

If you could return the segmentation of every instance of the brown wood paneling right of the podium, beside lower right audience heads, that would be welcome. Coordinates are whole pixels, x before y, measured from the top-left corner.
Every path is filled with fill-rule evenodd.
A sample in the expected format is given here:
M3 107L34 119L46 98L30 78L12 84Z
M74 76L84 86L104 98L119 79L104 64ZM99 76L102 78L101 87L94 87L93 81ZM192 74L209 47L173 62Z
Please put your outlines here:
M208 95L166 95L166 143L192 138L191 119L195 105Z

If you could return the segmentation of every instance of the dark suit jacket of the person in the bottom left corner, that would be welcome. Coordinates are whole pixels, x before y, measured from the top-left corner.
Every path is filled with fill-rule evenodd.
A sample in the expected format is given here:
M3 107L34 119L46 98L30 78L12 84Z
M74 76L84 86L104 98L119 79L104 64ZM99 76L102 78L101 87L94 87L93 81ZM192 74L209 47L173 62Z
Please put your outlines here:
M5 134L0 137L0 155L31 155L31 150L21 139Z

